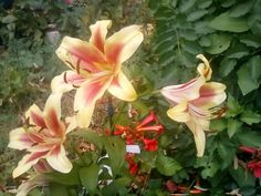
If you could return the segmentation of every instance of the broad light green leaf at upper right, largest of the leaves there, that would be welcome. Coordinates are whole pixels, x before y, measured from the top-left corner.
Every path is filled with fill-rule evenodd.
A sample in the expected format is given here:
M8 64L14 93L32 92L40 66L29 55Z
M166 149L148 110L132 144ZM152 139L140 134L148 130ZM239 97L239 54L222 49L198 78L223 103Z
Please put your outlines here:
M249 30L246 18L230 18L228 12L216 17L209 25L220 31L244 32Z

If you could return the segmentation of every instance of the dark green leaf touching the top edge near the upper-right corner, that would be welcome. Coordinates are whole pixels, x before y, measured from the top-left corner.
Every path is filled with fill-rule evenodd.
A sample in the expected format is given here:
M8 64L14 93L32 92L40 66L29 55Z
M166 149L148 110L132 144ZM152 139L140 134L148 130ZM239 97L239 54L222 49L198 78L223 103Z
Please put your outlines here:
M229 11L229 16L234 18L244 16L251 10L253 2L254 2L253 0L248 0L246 2L233 6Z

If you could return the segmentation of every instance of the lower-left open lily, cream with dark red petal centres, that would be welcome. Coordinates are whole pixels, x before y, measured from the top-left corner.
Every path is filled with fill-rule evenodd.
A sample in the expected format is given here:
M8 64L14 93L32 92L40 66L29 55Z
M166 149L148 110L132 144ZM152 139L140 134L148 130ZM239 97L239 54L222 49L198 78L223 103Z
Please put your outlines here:
M20 176L34 165L38 166L41 159L46 159L53 169L61 173L72 169L63 143L66 134L75 127L75 123L72 122L66 127L60 120L60 101L61 94L50 95L43 112L33 104L25 113L27 124L10 132L8 146L28 152L13 171L13 177Z

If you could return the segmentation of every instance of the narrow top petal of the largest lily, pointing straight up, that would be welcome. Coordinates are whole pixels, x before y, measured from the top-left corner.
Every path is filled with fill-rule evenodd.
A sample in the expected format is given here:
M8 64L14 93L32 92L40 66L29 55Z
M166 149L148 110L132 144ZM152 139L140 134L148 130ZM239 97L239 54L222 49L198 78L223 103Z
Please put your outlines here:
M111 28L111 20L101 20L95 24L90 25L92 32L90 42L93 43L102 52L104 52L104 43L107 35L107 30Z

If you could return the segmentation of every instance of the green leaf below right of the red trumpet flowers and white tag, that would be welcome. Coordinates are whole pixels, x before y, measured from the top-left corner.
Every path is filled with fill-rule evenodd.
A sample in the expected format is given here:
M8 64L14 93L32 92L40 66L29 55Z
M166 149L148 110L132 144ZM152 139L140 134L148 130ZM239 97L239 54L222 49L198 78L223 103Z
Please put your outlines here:
M171 176L181 169L178 162L169 156L163 155L161 153L158 153L156 167L158 172L165 176Z

